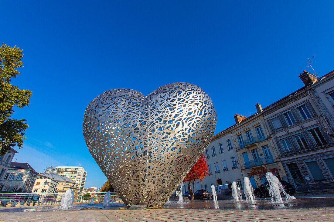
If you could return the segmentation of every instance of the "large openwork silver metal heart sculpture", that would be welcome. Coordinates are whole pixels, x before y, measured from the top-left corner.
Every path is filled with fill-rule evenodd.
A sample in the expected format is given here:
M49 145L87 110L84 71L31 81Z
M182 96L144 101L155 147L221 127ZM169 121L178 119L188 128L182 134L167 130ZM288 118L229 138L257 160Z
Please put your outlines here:
M205 151L216 119L211 98L181 82L146 97L108 90L88 105L82 128L89 151L127 207L158 208Z

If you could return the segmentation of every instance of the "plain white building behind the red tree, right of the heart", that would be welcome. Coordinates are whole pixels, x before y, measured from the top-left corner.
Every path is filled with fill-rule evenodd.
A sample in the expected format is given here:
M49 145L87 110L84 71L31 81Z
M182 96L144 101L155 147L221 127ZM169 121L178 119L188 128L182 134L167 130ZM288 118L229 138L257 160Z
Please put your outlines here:
M233 125L234 126L234 125ZM210 176L203 181L196 181L195 191L200 189L211 190L211 185L217 186L227 183L237 182L243 189L243 180L240 167L238 165L235 146L231 135L233 126L217 133L204 152ZM190 189L188 184L184 184L183 192Z

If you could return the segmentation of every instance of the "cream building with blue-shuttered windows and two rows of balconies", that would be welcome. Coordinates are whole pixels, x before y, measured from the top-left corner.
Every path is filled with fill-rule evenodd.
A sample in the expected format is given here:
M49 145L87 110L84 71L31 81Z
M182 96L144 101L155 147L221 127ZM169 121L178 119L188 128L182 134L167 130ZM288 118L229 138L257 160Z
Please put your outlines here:
M249 117L234 115L236 124L232 128L231 134L242 178L249 177L248 174L252 169L267 167L280 180L285 180L286 174L283 171L279 155L260 114L262 112L261 105L256 104L256 109L258 112ZM264 178L260 179L258 176L249 177L249 180L254 188L265 182Z

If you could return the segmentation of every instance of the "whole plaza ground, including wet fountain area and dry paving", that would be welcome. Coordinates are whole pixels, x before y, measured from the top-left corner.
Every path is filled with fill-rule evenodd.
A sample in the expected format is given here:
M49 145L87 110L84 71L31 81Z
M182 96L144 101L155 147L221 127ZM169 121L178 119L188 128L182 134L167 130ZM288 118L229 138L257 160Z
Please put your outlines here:
M125 205L82 210L84 205L59 210L59 206L0 208L0 221L33 222L192 222L192 221L334 221L334 198L299 198L283 204L232 201L173 202L161 209L126 210ZM87 206L87 205L85 205Z

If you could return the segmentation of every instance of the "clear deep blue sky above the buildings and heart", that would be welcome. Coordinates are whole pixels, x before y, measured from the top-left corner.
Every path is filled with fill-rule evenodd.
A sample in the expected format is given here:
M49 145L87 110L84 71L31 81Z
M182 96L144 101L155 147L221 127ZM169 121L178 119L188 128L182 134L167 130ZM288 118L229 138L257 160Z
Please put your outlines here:
M89 102L114 88L147 95L171 82L208 93L216 133L303 86L315 57L332 71L333 1L3 1L0 40L23 49L12 83L32 91L13 117L29 128L15 155L38 172L79 165L85 187L106 177L82 136ZM312 71L307 69L308 71Z

